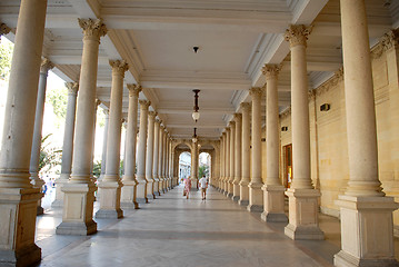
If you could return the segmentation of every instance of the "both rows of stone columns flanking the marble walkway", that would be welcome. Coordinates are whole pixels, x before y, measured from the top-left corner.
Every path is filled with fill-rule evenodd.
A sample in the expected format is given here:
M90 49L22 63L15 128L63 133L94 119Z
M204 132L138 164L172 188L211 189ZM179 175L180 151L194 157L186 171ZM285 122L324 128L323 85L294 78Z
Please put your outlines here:
M335 256L337 266L395 264L392 211L397 204L386 197L378 178L376 115L369 53L369 37L363 1L341 0L341 27L348 154L350 178L345 195L339 196L341 215L341 251ZM39 83L47 1L22 0L18 18L14 56L6 107L2 150L0 155L1 263L31 265L40 260L34 244L34 229L40 181L37 181L37 140L41 128L42 93L46 78ZM34 12L33 12L34 11ZM58 181L63 199L60 235L90 235L97 231L92 218L94 191L92 179L93 139L97 110L97 70L100 39L107 28L100 19L79 19L83 30L83 52L79 83L70 85L64 164ZM1 27L1 33L6 33ZM318 225L319 190L310 178L310 136L306 48L311 29L291 26L286 33L291 50L291 108L293 182L286 191L289 217L285 233L292 239L323 239ZM27 46L29 43L29 46ZM141 88L128 85L129 113L126 146L126 171L119 176L121 99L123 60L110 61L112 67L111 106L107 127L107 154L100 181L99 218L120 218L121 207L138 207L172 184L173 157L171 138L150 102L139 100ZM43 75L47 73L49 67ZM251 88L251 103L241 103L221 136L221 177L219 190L248 210L262 212L266 221L286 221L283 187L278 174L277 80L279 67L263 68L267 83L267 160L261 158L262 88ZM43 83L44 82L44 86ZM40 86L39 86L40 85ZM77 98L79 85L79 96ZM38 93L38 88L40 89ZM140 105L139 144L136 151L137 117ZM38 107L38 108L37 108ZM76 110L76 112L74 112ZM251 112L251 115L250 115ZM242 117L242 118L241 118ZM250 121L251 119L251 121ZM76 121L76 123L73 123ZM36 126L37 125L37 126ZM250 127L251 126L251 127ZM67 129L68 128L68 129ZM74 129L73 129L74 128ZM68 131L68 134L67 134ZM73 141L72 141L73 140ZM193 178L198 178L198 147L194 147ZM137 158L137 176L134 177ZM32 160L33 159L33 160ZM34 166L31 166L33 162ZM267 165L266 184L261 166ZM70 174L69 174L70 172ZM197 179L196 179L197 180ZM59 192L59 189L58 189Z

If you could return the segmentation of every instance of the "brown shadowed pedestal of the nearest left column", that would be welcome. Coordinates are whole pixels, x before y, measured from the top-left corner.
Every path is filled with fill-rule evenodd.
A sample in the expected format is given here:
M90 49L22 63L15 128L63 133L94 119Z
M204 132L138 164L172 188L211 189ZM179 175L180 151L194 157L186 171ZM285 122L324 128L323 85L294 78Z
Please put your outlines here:
M31 266L41 259L34 244L39 188L0 188L0 266ZM4 233L6 231L6 233Z

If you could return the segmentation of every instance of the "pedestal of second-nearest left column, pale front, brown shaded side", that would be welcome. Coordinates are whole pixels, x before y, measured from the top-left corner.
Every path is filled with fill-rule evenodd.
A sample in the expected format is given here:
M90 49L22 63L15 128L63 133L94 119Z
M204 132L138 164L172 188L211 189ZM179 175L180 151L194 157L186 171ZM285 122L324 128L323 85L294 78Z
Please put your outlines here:
M62 222L57 227L56 234L87 236L97 233L97 224L92 219L96 186L92 182L68 182L62 191Z

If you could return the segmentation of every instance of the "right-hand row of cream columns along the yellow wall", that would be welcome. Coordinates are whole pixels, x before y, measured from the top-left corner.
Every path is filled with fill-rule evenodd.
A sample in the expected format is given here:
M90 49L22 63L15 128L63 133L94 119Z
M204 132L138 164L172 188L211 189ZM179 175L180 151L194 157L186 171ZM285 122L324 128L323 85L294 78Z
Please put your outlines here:
M350 178L339 196L341 250L336 266L391 266L393 255L392 211L398 208L386 197L378 178L377 129L371 75L370 44L363 1L341 0L341 27L347 110ZM310 177L310 126L306 49L311 27L291 26L285 38L291 51L291 125L293 178L285 189L279 175L279 65L266 65L267 159L261 158L261 96L263 88L251 88L251 103L241 103L241 137L237 115L236 139L230 122L221 135L220 178L213 185L250 211L261 211L265 221L287 222L285 234L291 239L323 239L318 222L320 191ZM249 110L251 108L251 125ZM238 140L240 138L240 140ZM249 141L250 140L250 141ZM250 145L251 142L251 145ZM236 147L236 152L230 149ZM241 149L238 149L240 147ZM251 151L251 156L249 155ZM232 171L232 164L240 165ZM266 166L266 182L261 166ZM249 171L251 170L251 171ZM262 194L261 194L262 191ZM285 214L285 195L289 216Z

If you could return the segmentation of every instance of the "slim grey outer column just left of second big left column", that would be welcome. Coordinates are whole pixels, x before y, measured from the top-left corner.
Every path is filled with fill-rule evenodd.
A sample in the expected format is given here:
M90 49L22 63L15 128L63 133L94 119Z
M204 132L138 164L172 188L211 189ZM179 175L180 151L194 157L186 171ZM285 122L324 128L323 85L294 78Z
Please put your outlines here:
M56 208L63 206L63 192L61 188L66 182L68 182L69 177L71 176L74 119L77 112L77 96L79 90L79 83L67 82L66 87L68 88L68 105L67 105L66 127L63 130L61 175L56 180L56 199L51 204L51 207L56 207Z

